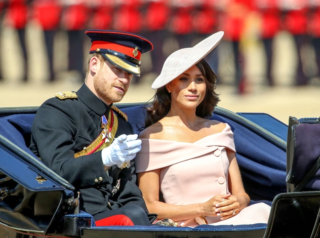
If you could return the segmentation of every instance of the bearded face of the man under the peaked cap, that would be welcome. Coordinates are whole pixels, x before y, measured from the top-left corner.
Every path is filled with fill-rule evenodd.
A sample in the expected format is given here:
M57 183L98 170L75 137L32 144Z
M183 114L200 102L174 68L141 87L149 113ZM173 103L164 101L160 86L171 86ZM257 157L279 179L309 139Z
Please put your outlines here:
M132 74L106 61L94 75L93 86L105 103L121 101L129 89Z

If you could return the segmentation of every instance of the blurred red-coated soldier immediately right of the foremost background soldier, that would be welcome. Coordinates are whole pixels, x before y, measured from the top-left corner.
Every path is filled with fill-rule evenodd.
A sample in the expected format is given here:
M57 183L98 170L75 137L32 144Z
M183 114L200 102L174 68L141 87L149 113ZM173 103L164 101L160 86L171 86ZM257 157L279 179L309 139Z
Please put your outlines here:
M273 39L281 28L281 13L278 1L279 0L256 0L256 5L261 15L260 37L266 54L266 77L269 86L274 86L274 79L271 72L273 62Z

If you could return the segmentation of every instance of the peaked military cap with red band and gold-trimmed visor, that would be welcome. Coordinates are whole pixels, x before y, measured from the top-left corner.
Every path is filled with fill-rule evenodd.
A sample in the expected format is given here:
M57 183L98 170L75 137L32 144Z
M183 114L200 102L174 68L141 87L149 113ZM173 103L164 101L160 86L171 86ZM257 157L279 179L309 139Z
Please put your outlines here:
M130 32L114 30L86 30L91 39L90 54L101 53L110 63L140 76L141 54L153 49L145 37Z

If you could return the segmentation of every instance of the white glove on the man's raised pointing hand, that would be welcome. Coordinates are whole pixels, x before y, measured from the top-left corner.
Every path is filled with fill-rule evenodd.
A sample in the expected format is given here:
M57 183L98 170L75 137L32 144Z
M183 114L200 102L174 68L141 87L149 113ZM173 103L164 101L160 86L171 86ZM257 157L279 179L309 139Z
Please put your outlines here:
M131 161L141 149L141 140L138 135L121 135L101 152L103 164L111 167L126 161Z

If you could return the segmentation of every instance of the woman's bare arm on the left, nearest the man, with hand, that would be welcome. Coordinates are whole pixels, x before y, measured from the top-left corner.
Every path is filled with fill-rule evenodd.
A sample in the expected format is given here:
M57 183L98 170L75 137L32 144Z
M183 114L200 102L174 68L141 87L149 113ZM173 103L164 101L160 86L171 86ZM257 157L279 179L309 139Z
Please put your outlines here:
M216 195L206 203L190 205L171 205L159 202L159 173L153 170L138 173L138 184L150 213L158 214L158 219L170 218L173 221L192 219L197 216L216 216L216 205L223 195Z

